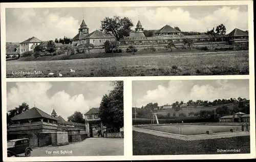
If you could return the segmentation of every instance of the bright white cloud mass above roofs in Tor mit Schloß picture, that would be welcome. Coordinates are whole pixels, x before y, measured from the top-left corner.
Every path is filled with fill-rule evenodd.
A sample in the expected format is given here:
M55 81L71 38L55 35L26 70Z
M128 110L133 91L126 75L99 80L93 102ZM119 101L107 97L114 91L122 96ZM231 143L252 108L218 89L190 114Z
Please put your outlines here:
M72 87L72 85L67 85L67 87ZM56 91L52 97L49 97L47 91L54 88L49 82L17 82L16 87L11 87L7 94L7 110L26 102L30 108L34 107L35 104L37 108L48 114L54 108L57 115L67 119L74 111L85 113L90 107L99 106L106 90L102 91L95 85L93 87L96 93L91 91L90 99L84 98L82 94L71 96L65 90ZM101 94L99 91L101 91Z

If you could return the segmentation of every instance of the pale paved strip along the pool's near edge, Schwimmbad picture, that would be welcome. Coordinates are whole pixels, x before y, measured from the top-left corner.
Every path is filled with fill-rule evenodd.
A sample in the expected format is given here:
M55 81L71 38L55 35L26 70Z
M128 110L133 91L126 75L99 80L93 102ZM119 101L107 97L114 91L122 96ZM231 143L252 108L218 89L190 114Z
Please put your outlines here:
M167 132L161 132L156 130L150 129L143 129L133 127L134 131L152 134L156 136L174 138L177 140L184 140L184 141L195 141L195 140L208 140L208 139L216 139L216 138L227 138L227 137L234 137L234 136L247 136L250 135L250 132L238 131L238 132L223 132L223 133L214 133L214 134L198 134L198 135L180 135L180 134L173 134Z

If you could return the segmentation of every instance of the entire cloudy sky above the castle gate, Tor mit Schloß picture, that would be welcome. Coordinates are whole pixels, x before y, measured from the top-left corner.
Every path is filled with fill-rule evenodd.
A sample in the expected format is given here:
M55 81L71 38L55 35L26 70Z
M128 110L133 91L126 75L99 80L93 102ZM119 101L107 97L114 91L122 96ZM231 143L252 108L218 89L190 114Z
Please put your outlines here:
M75 111L84 114L99 107L103 95L113 88L111 81L7 82L7 111L25 102L50 115L54 108L67 120Z

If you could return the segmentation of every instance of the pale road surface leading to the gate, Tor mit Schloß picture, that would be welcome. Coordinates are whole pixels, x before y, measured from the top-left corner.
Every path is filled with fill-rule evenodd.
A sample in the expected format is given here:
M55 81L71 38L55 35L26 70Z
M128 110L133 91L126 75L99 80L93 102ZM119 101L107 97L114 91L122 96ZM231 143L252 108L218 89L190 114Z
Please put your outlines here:
M91 137L65 146L32 148L31 156L122 156L123 138Z

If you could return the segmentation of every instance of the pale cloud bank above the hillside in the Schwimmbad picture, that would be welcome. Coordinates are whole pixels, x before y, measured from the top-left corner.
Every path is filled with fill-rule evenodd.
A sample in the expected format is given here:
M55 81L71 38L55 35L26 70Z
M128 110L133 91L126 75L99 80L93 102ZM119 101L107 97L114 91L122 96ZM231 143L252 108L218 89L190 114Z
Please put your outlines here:
M188 100L230 99L249 97L248 86L236 85L227 80L217 80L211 84L196 84L194 81L172 80L168 86L158 85L156 89L146 91L146 94L137 99L133 106L146 105L157 102L159 105L172 104L176 101L187 102Z

